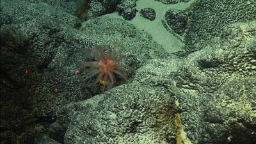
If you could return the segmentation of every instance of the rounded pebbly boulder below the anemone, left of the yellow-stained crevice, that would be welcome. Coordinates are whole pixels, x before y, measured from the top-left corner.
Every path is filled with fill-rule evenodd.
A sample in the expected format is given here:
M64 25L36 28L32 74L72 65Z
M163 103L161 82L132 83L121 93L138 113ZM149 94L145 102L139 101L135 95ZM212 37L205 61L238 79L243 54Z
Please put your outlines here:
M166 143L175 134L169 95L139 83L65 106L59 116L64 143Z

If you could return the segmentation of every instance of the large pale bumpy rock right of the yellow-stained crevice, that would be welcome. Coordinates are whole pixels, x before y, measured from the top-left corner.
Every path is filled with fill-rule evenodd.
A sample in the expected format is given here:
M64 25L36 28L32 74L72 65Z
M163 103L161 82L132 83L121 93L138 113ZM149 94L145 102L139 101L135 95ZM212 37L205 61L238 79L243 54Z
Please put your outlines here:
M172 101L179 102L184 131L191 141L228 143L231 139L237 144L253 143L253 131L256 131L255 78L252 78L256 75L256 22L231 24L223 28L220 35L208 47L186 58L149 60L148 65L137 70L135 79L160 92L170 93ZM223 103L231 106L221 97L233 102L234 108L220 108ZM237 105L234 103L243 97L246 104L243 100ZM246 108L251 109L250 113L246 114ZM218 113L220 117L216 116Z

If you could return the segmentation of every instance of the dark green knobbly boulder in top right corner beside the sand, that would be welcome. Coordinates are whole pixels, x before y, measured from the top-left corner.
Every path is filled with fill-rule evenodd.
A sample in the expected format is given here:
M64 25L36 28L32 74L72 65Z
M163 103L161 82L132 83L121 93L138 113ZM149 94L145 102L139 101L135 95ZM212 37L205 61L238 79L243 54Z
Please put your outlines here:
M185 51L194 52L209 45L227 24L256 20L256 3L250 1L196 1L189 12Z

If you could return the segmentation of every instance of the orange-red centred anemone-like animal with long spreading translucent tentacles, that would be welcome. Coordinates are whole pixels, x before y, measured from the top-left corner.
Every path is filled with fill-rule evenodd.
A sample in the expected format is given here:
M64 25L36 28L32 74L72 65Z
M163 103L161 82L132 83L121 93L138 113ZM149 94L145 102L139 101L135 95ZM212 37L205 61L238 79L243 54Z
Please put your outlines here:
M84 49L85 54L95 57L96 61L78 62L77 66L81 69L92 68L88 74L81 76L86 80L96 76L94 84L100 83L104 88L111 88L116 83L115 75L126 79L124 65L120 61L124 58L121 52L114 51L112 47L103 49L99 45L95 45L94 49Z

